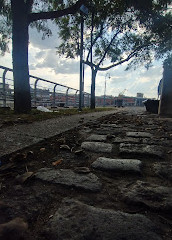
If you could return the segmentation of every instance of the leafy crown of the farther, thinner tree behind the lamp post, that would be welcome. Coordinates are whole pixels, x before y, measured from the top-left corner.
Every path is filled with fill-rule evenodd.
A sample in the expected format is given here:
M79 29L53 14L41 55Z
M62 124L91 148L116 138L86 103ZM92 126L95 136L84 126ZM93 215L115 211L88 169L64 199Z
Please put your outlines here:
M171 51L172 15L167 11L170 1L98 1L88 6L85 18L85 63L103 71L129 61L127 69L139 64L150 66L154 58L167 57ZM102 11L103 9L103 11ZM92 25L93 19L93 31ZM79 55L81 16L58 19L62 44L60 55L74 58ZM93 34L94 63L90 60ZM109 59L112 64L104 67Z

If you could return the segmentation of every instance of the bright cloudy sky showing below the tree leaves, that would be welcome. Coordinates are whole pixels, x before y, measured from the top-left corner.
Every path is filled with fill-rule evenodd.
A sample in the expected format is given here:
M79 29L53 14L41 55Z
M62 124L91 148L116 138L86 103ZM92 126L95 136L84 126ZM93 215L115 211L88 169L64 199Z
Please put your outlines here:
M57 55L56 47L60 40L56 26L52 25L51 29L53 35L45 40L42 40L42 33L38 33L35 29L29 30L30 74L79 89L79 58L66 59ZM12 68L11 54L10 46L10 52L0 56L0 65ZM96 96L104 95L106 81L106 95L118 96L119 93L124 92L126 96L135 97L137 93L143 93L144 97L157 98L157 87L163 72L162 62L154 62L149 70L140 67L135 71L125 71L126 65L125 63L98 73ZM107 73L110 78L107 77ZM49 88L46 84L44 87ZM90 67L85 66L84 91L90 93L90 88L91 71Z

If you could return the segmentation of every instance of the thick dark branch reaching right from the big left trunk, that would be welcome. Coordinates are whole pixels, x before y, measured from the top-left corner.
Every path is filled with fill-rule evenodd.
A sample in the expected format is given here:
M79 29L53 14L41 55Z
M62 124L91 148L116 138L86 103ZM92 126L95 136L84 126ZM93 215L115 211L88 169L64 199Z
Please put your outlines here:
M78 0L76 4L72 5L71 7L57 10L57 11L51 11L51 12L40 12L40 13L31 13L29 14L29 23L41 19L54 19L59 18L68 14L74 14L78 11L78 9L81 7L82 4L86 3L86 0Z

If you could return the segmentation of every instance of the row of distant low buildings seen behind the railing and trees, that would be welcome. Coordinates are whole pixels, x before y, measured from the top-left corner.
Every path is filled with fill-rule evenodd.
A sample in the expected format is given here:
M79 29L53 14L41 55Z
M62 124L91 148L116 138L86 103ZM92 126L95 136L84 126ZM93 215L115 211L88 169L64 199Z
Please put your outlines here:
M14 90L10 88L9 84L5 85L5 95L3 89L3 83L0 83L0 106L10 106L13 107L14 102ZM67 94L62 92L56 92L55 99L54 93L49 89L35 89L32 87L31 90L31 98L32 98L32 106L42 105L45 107L48 106L78 106L79 104L79 94ZM117 106L117 107L125 107L125 106L144 106L143 101L146 98L143 97L143 93L137 93L136 97L125 96L124 91L119 94L118 97L114 97L112 95L102 95L96 96L96 106ZM35 99L36 97L36 99ZM104 101L105 100L105 101ZM85 106L89 106L90 96L88 94L84 95L84 103Z

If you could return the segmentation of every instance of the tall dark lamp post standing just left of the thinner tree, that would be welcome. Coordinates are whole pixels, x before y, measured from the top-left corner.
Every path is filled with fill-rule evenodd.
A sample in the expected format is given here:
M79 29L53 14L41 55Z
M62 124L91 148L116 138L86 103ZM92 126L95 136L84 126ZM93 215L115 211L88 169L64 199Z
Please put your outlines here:
M80 84L79 84L79 111L82 111L83 106L83 33L84 33L84 15L88 15L88 8L82 5L81 12L81 44L80 44Z

